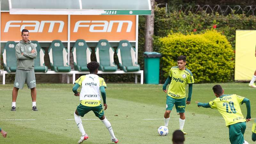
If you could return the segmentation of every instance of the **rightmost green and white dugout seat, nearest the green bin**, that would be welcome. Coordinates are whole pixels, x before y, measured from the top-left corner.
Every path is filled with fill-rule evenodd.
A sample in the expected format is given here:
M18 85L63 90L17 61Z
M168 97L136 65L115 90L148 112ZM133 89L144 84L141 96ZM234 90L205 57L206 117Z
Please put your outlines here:
M139 71L140 65L136 62L135 48L127 40L121 40L116 49L119 67L125 72Z

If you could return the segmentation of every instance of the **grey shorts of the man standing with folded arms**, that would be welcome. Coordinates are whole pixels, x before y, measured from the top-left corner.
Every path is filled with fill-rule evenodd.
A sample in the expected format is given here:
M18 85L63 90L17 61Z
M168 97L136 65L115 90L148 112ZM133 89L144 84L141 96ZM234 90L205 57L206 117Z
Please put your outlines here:
M14 87L23 89L25 82L29 89L36 87L36 76L33 70L16 69Z

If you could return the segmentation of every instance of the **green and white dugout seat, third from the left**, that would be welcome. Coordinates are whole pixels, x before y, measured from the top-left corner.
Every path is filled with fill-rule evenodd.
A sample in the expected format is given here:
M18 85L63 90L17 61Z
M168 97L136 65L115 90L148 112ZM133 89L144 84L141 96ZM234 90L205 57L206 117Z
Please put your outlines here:
M70 72L68 65L68 50L64 47L60 40L52 41L48 50L51 70L55 72Z

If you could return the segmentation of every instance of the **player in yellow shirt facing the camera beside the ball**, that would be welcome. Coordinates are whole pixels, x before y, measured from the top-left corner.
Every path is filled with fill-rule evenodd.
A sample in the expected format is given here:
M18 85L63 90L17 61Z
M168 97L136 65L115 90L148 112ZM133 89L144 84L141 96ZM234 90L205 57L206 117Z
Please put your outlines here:
M166 110L164 113L164 125L168 127L170 113L175 104L176 111L180 114L180 131L183 131L185 123L185 107L186 104L190 104L192 95L192 84L194 84L194 77L186 65L186 57L181 55L177 59L178 66L172 67L169 72L169 76L166 79L163 91L167 93L166 96ZM171 82L171 84L170 84ZM170 84L168 91L166 86ZM188 99L186 101L186 85L188 84Z

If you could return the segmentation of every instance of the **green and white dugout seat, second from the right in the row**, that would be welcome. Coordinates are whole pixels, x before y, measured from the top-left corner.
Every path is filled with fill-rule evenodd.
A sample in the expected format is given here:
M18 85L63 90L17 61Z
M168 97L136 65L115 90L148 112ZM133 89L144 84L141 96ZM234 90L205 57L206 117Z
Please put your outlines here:
M108 43L108 40L102 39L95 48L97 62L100 63L99 70L116 71L117 65L114 63L114 49Z

